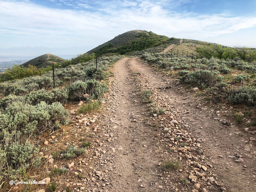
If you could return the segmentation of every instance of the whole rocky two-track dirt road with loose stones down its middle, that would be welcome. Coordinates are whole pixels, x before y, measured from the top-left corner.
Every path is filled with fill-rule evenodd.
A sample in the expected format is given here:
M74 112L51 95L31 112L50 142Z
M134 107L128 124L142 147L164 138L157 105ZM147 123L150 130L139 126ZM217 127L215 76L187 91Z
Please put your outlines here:
M206 105L139 58L123 58L112 71L104 109L86 130L93 138L88 157L74 162L76 177L62 185L93 192L256 191L255 141L226 118L230 106ZM143 90L152 91L164 114L148 111Z

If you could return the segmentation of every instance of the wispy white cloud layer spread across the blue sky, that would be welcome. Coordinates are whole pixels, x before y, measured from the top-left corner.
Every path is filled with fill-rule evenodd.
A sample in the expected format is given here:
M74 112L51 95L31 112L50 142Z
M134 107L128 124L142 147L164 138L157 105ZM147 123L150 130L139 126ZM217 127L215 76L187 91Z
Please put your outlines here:
M173 6L189 1L173 0ZM73 8L92 8L88 1L59 2L72 4ZM203 40L256 26L256 17L177 13L166 9L164 5L167 1L164 0L156 3L149 0L94 3L101 3L102 6L78 11L0 0L0 40L7 42L10 38L12 46L15 43L16 46L37 43L38 46L51 47L84 46L89 50L118 34L135 29L169 37ZM18 41L14 42L11 38ZM256 46L256 40L252 41Z

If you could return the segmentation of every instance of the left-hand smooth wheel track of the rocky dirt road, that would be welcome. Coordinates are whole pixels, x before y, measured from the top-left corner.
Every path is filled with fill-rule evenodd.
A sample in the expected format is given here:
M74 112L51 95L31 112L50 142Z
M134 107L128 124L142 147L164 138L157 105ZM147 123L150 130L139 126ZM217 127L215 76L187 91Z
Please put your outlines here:
M122 148L116 157L116 178L112 191L158 191L158 163L162 159L154 153L152 131L142 124L142 114L146 109L139 102L138 90L128 67L130 59L124 58L115 64L115 82L118 87L116 116L118 126L115 130L118 142L115 148ZM152 184L152 186L151 186Z

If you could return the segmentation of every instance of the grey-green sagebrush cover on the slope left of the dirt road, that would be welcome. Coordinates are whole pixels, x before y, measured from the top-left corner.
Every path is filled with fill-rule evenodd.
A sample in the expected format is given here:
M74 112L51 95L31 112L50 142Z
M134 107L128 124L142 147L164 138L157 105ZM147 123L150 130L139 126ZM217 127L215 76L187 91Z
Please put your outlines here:
M68 124L69 113L62 104L97 100L99 105L108 91L104 82L108 67L120 58L100 58L97 69L95 60L57 68L56 89L52 89L52 72L0 84L0 180L19 178L28 168L44 166L38 136ZM68 146L62 158L79 156L85 150Z

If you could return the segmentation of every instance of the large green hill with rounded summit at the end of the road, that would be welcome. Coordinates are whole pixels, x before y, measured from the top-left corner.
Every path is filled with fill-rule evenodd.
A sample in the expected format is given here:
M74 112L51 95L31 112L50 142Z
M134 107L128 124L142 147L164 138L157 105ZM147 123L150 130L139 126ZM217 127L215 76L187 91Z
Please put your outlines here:
M168 38L167 36L158 35L151 31L132 30L116 36L112 40L88 51L87 53L95 53L96 55L107 53L131 54L152 47L167 44L179 44L179 41L180 39Z

